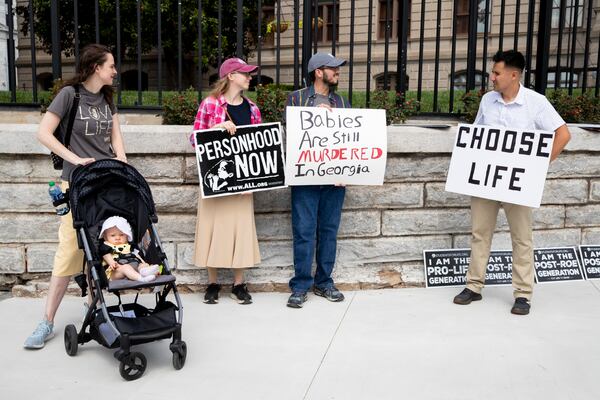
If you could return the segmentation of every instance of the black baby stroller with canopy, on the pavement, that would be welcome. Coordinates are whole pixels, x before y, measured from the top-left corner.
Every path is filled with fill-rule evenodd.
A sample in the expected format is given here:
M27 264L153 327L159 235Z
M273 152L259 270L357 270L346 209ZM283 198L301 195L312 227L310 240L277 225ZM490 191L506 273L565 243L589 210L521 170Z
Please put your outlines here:
M74 325L65 328L65 350L70 356L77 354L79 344L95 340L101 345L117 349L115 358L120 361L119 372L126 380L142 376L146 357L130 351L131 346L160 339L172 338L173 367L181 369L187 355L186 343L181 340L183 307L171 274L169 262L153 223L156 210L146 180L132 166L107 159L79 167L71 175L69 202L73 226L77 231L79 247L84 250L84 275L76 278L85 295L89 286L93 298L81 330ZM119 215L129 221L134 242L138 243L140 256L149 264L163 266L162 274L150 282L127 279L109 281L105 267L98 255L98 233L104 220ZM148 309L138 304L143 288L154 287L156 305ZM102 290L113 293L118 304L107 306ZM121 301L121 291L137 290L133 303ZM167 300L172 292L176 304Z

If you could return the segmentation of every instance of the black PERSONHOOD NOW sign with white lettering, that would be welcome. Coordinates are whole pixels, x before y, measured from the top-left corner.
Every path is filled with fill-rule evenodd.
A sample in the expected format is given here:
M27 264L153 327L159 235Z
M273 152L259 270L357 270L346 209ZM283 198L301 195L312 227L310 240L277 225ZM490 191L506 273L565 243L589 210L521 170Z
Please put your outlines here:
M285 187L281 124L194 132L202 197Z

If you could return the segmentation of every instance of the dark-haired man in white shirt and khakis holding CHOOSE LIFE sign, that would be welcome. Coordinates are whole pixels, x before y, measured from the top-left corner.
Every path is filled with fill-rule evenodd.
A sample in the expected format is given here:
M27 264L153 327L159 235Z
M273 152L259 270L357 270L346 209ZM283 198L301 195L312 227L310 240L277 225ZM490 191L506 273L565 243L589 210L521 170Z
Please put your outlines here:
M493 58L490 79L494 90L486 93L479 105L475 124L513 129L555 132L550 161L556 159L571 139L565 121L542 94L521 85L525 57L518 51L498 51ZM515 303L513 314L529 314L533 292L533 239L531 208L495 200L471 198L471 263L467 287L454 297L456 304L481 300L485 270L500 206L504 208L512 239L512 282Z

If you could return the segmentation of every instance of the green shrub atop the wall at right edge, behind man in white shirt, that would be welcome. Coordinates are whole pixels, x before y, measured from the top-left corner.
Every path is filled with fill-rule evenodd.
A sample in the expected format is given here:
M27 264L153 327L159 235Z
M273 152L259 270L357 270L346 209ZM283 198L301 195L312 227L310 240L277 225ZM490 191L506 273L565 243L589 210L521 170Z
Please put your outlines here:
M600 122L600 100L589 92L573 96L565 90L553 90L548 100L565 122Z

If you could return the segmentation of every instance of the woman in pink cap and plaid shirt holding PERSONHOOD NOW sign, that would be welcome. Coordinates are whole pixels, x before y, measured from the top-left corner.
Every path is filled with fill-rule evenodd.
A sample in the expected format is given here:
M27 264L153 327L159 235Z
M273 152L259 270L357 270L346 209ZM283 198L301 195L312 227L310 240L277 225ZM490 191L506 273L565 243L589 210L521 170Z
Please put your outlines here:
M234 135L238 125L260 124L258 107L242 95L250 86L250 73L257 69L239 58L225 60L219 68L220 79L198 108L194 130L221 128ZM190 140L193 143L193 136ZM199 197L194 247L194 264L208 269L205 303L219 302L218 268L233 270L231 298L240 304L252 303L244 283L244 270L260 262L252 193Z

